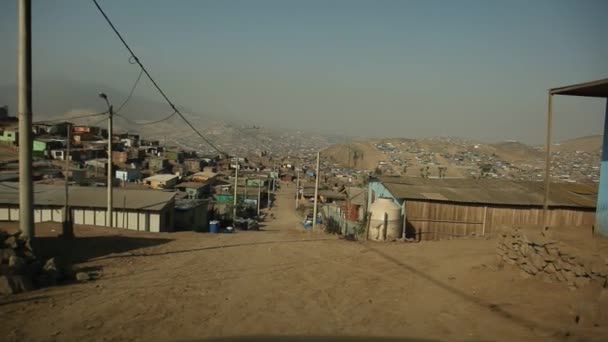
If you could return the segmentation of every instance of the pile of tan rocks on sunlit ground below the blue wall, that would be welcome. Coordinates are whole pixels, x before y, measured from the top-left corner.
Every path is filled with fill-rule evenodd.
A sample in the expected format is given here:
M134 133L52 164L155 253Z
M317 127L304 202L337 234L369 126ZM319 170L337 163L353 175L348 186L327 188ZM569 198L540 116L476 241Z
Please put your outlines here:
M541 232L518 228L499 234L499 258L522 270L522 276L567 283L571 288L597 281L608 286L608 260L588 255Z

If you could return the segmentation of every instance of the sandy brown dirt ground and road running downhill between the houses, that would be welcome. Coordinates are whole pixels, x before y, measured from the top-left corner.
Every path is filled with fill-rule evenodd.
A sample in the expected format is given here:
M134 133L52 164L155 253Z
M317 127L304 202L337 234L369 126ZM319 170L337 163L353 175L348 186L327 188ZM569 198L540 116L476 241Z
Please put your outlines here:
M263 231L135 233L78 227L44 253L99 274L0 298L0 340L605 340L580 314L593 287L523 279L495 241L350 242L303 231L282 189ZM576 314L579 323L575 323ZM359 337L359 338L356 338Z

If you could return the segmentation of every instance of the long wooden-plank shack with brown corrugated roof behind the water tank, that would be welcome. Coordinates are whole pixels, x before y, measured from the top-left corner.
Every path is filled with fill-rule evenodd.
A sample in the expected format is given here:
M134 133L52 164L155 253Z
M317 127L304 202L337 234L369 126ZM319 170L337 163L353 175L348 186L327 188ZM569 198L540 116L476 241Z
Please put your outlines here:
M378 198L389 198L402 208L404 231L410 237L451 239L491 235L504 225L540 227L543 193L541 182L378 177L369 182L367 207ZM596 196L592 185L552 184L549 226L590 232Z

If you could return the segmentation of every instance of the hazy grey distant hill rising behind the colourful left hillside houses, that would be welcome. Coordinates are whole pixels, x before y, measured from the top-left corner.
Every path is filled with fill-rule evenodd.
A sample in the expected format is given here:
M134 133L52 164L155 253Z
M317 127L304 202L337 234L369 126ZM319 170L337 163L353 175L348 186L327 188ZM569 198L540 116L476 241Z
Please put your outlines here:
M115 110L118 110L128 96L127 92L103 84L67 80L37 81L33 91L34 121L61 120L103 112L106 105L98 97L100 91L110 97ZM16 114L16 101L17 87L0 85L0 106L8 105L11 115ZM318 151L344 140L337 136L268 127L251 130L251 127L227 121L219 115L203 115L189 108L179 108L194 127L227 153L246 154L253 150L281 151L286 154L299 153L301 150ZM114 129L116 132L137 132L147 138L159 139L187 149L214 152L178 115L158 122L167 118L171 112L165 102L138 96L136 91L120 111L120 115L115 117ZM70 121L99 126L107 124L103 116Z

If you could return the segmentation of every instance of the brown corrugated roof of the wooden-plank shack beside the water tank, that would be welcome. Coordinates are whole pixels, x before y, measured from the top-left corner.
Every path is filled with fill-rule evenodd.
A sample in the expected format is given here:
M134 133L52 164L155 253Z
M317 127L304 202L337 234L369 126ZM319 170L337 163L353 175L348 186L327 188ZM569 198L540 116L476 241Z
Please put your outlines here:
M534 206L543 203L541 182L404 177L379 177L378 180L401 199ZM597 188L592 185L552 183L550 187L550 206L595 208L596 200Z

